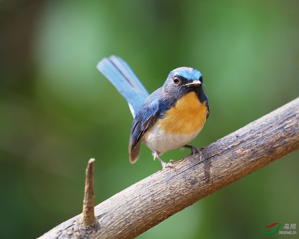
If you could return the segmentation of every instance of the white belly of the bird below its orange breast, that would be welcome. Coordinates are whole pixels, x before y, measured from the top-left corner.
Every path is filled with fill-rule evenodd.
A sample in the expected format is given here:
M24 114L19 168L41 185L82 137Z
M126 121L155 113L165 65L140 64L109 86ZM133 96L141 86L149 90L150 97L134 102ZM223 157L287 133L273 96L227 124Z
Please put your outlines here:
M181 148L184 145L190 143L202 130L200 128L193 134L184 133L163 133L159 124L154 125L147 131L143 138L143 142L152 151L157 151L160 155L167 150Z

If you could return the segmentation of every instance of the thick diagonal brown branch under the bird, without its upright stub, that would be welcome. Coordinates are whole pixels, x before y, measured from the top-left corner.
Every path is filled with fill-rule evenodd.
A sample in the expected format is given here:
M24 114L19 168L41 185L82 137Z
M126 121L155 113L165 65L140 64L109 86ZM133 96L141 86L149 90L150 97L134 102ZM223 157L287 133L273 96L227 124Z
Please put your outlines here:
M134 238L196 201L299 148L299 97L95 207L90 238ZM67 238L80 215L40 238Z

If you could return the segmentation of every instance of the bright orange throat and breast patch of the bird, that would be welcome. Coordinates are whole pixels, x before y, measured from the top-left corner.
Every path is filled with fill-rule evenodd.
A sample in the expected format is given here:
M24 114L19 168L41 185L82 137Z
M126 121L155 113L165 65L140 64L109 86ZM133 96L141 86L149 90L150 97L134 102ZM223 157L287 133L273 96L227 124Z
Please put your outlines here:
M167 133L192 134L202 129L206 117L205 102L201 103L192 91L181 97L157 123Z

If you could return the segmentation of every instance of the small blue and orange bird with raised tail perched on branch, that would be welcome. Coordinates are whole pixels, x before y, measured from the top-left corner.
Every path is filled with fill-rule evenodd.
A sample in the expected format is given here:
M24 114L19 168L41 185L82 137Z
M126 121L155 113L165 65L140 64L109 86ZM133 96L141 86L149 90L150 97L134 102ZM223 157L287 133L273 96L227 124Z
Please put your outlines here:
M126 99L134 117L129 141L129 159L135 163L140 145L145 143L158 158L163 168L161 154L176 148L190 148L192 153L201 150L187 145L202 130L209 117L208 97L202 89L202 74L196 69L180 67L171 71L164 85L152 94L139 81L130 66L118 56L103 58L97 69ZM176 168L175 168L176 169Z

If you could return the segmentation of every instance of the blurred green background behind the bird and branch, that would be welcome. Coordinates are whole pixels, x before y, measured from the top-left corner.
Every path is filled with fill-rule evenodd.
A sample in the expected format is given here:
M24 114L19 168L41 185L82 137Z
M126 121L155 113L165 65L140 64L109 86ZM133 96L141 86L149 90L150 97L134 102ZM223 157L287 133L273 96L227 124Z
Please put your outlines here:
M132 115L100 59L121 56L150 93L174 68L201 71L210 117L192 144L205 146L298 97L299 3L4 0L0 50L0 238L36 238L82 211L90 158L96 204L161 169L145 145L129 163ZM270 238L274 222L299 233L298 157L138 238Z

